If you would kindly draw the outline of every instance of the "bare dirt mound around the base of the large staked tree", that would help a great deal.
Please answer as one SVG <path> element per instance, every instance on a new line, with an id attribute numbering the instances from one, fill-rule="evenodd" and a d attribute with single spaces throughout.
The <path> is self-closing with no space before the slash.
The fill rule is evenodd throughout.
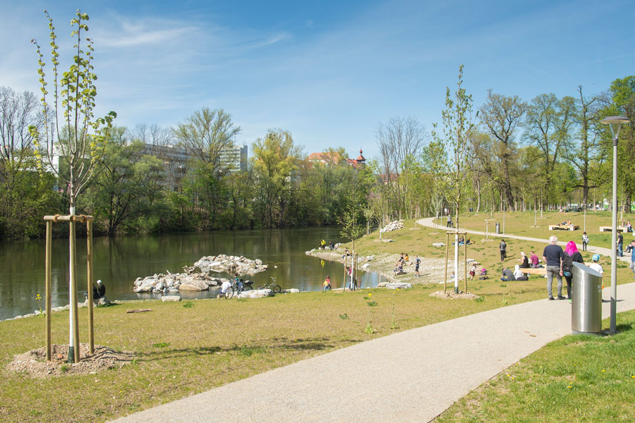
<path id="1" fill-rule="evenodd" d="M 66 376 L 68 374 L 96 374 L 107 369 L 122 367 L 131 362 L 135 355 L 130 352 L 119 352 L 102 345 L 95 345 L 95 354 L 88 355 L 88 344 L 80 343 L 78 363 L 69 364 L 68 345 L 52 345 L 52 360 L 47 362 L 47 348 L 30 350 L 13 357 L 7 364 L 11 372 L 28 374 L 32 377 Z"/>

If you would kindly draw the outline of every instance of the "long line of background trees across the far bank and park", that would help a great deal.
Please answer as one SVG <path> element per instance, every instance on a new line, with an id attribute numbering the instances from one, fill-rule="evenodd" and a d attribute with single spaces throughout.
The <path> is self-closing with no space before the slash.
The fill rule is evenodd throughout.
<path id="1" fill-rule="evenodd" d="M 358 167 L 341 147 L 327 149 L 327 163 L 311 163 L 289 131 L 272 129 L 253 142 L 246 171 L 236 171 L 222 151 L 241 128 L 222 109 L 204 107 L 174 128 L 104 128 L 99 159 L 82 159 L 95 162 L 77 213 L 94 215 L 95 231 L 107 235 L 339 224 L 356 238 L 367 222 L 439 215 L 444 207 L 547 209 L 610 196 L 612 144 L 600 121 L 634 120 L 635 76 L 562 98 L 526 101 L 490 90 L 478 107 L 462 78 L 461 67 L 439 125 L 428 131 L 414 117 L 380 123 L 379 157 Z M 38 171 L 44 153 L 32 128 L 44 129 L 45 117 L 34 94 L 0 87 L 1 238 L 40 237 L 44 214 L 65 213 L 70 188 Z M 72 136 L 61 130 L 61 148 Z M 624 125 L 618 196 L 625 212 L 635 190 L 634 144 L 633 126 Z M 171 145 L 190 159 L 172 160 Z"/>

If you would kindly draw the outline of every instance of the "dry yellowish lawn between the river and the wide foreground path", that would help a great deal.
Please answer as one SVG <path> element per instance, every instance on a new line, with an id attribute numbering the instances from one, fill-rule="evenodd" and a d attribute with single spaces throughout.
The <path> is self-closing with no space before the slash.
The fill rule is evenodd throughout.
<path id="1" fill-rule="evenodd" d="M 444 241 L 444 233 L 411 230 L 413 226 L 408 221 L 406 228 L 388 233 L 392 243 L 377 243 L 377 235 L 371 234 L 356 243 L 356 249 L 365 255 L 409 252 L 411 257 L 442 258 L 444 249 L 436 249 L 432 243 Z M 546 297 L 544 278 L 502 283 L 497 241 L 475 239 L 476 244 L 468 247 L 468 257 L 490 270 L 490 279 L 468 284 L 468 291 L 479 296 L 477 300 L 430 298 L 440 287 L 425 284 L 399 291 L 377 288 L 260 300 L 145 301 L 97 308 L 95 343 L 132 351 L 136 360 L 121 369 L 92 375 L 32 379 L 6 371 L 13 355 L 44 346 L 44 319 L 0 321 L 0 421 L 112 419 L 353 343 Z M 543 247 L 509 240 L 506 264 L 516 264 L 521 250 L 541 251 Z M 607 261 L 603 265 L 607 278 Z M 618 272 L 618 281 L 632 280 L 626 266 Z M 369 307 L 373 301 L 376 305 Z M 126 313 L 143 308 L 152 312 Z M 365 331 L 369 311 L 372 333 Z M 80 341 L 87 340 L 86 321 L 87 310 L 80 309 Z M 67 343 L 68 314 L 56 312 L 52 322 L 53 342 Z"/>

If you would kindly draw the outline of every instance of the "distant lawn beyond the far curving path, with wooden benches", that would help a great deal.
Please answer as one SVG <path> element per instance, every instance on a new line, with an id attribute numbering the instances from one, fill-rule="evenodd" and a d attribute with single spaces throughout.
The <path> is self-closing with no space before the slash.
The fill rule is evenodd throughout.
<path id="1" fill-rule="evenodd" d="M 495 212 L 492 216 L 495 221 L 490 221 L 489 223 L 490 233 L 495 232 L 495 223 L 500 223 L 502 231 L 503 213 Z M 535 217 L 537 227 L 533 227 Z M 485 232 L 485 219 L 490 219 L 489 213 L 461 214 L 461 216 L 459 216 L 459 225 L 461 228 Z M 549 225 L 556 225 L 557 223 L 562 223 L 568 219 L 570 219 L 571 223 L 574 225 L 579 225 L 580 229 L 577 231 L 549 231 Z M 611 219 L 611 212 L 586 213 L 586 233 L 589 238 L 589 245 L 604 248 L 610 247 L 611 233 L 600 232 L 600 226 L 611 226 Z M 619 220 L 619 214 L 617 215 L 617 219 L 618 224 L 621 225 L 622 221 Z M 628 219 L 631 219 L 631 216 L 629 214 L 624 214 L 624 220 Z M 631 220 L 635 221 L 635 217 Z M 540 212 L 538 212 L 537 216 L 534 216 L 533 212 L 506 212 L 504 214 L 504 228 L 505 232 L 508 234 L 542 239 L 548 239 L 551 235 L 556 235 L 560 241 L 575 241 L 580 249 L 584 227 L 583 222 L 583 213 L 543 212 L 542 218 L 540 217 Z M 437 223 L 445 225 L 446 221 L 444 218 L 437 219 Z M 624 233 L 624 247 L 626 247 L 633 239 L 633 233 Z"/>

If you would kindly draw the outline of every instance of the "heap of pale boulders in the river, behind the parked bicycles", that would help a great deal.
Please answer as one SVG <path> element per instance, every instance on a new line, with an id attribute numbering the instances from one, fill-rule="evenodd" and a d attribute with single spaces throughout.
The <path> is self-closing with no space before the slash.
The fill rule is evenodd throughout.
<path id="1" fill-rule="evenodd" d="M 250 260 L 243 256 L 207 256 L 201 257 L 193 266 L 183 268 L 180 274 L 154 274 L 135 281 L 135 293 L 161 293 L 179 291 L 204 291 L 220 286 L 226 278 L 216 278 L 212 273 L 234 275 L 253 275 L 267 270 L 262 260 Z"/>

